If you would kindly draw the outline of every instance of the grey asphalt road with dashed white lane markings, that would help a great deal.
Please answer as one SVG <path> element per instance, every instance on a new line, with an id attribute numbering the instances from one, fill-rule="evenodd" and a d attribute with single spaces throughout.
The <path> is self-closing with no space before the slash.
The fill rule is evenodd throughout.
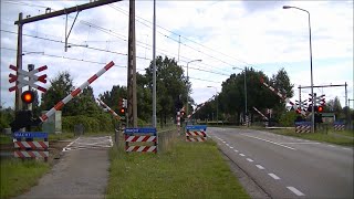
<path id="1" fill-rule="evenodd" d="M 238 128 L 208 136 L 271 198 L 354 197 L 353 147 Z"/>

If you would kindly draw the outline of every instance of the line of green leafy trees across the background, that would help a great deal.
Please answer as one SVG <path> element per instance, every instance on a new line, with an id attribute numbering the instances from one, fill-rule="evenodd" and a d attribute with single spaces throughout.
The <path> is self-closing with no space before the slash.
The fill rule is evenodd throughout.
<path id="1" fill-rule="evenodd" d="M 216 118 L 218 118 L 223 122 L 239 123 L 247 112 L 253 122 L 262 121 L 261 116 L 253 111 L 253 107 L 257 107 L 262 113 L 271 108 L 274 121 L 290 123 L 290 121 L 296 116 L 294 112 L 289 112 L 285 108 L 284 102 L 267 88 L 260 82 L 260 78 L 263 78 L 264 82 L 275 87 L 289 98 L 293 96 L 293 84 L 291 84 L 284 69 L 279 70 L 277 74 L 268 77 L 262 71 L 254 71 L 252 67 L 247 67 L 238 74 L 231 74 L 222 82 L 220 93 L 205 103 L 205 105 L 192 115 L 192 118 L 201 121 L 216 121 Z M 247 107 L 244 101 L 244 81 L 247 85 Z M 41 94 L 41 102 L 39 102 L 38 96 L 33 102 L 34 116 L 40 116 L 43 111 L 52 108 L 75 88 L 73 78 L 67 71 L 60 72 L 54 78 L 50 80 L 50 83 L 48 91 Z M 136 74 L 136 83 L 138 126 L 149 126 L 152 124 L 153 113 L 153 62 L 145 69 L 145 74 Z M 176 101 L 178 100 L 187 102 L 188 97 L 188 109 L 190 113 L 194 111 L 192 105 L 195 102 L 190 97 L 191 83 L 184 75 L 183 66 L 178 65 L 175 59 L 157 56 L 156 93 L 156 114 L 157 122 L 160 126 L 175 122 Z M 126 97 L 127 87 L 123 85 L 113 85 L 111 90 L 98 94 L 98 98 L 116 113 L 118 113 L 119 108 L 119 98 Z M 329 104 L 332 104 L 331 108 L 333 112 L 337 115 L 343 115 L 343 108 L 337 98 L 331 101 Z M 184 106 L 186 106 L 185 103 Z M 12 108 L 1 108 L 0 128 L 9 127 L 13 115 Z M 353 112 L 351 115 L 353 118 Z M 72 130 L 73 125 L 76 123 L 84 123 L 86 129 L 88 128 L 90 130 L 110 130 L 118 124 L 108 113 L 103 112 L 103 107 L 96 103 L 94 91 L 91 86 L 87 86 L 79 96 L 63 106 L 62 116 L 64 130 Z"/>

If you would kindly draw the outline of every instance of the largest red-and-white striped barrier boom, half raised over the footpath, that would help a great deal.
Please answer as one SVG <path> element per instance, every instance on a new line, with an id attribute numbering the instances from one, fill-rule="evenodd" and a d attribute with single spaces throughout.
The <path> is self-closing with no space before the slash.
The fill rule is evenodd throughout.
<path id="1" fill-rule="evenodd" d="M 80 87 L 71 92 L 65 98 L 60 101 L 54 107 L 52 107 L 49 112 L 40 116 L 41 122 L 45 122 L 51 115 L 53 115 L 56 111 L 60 111 L 66 103 L 69 103 L 72 98 L 79 95 L 85 87 L 87 87 L 92 82 L 97 80 L 103 73 L 108 71 L 114 65 L 114 62 L 111 61 L 107 65 L 105 65 L 102 70 L 100 70 L 96 74 L 91 76 L 85 83 L 83 83 Z"/>

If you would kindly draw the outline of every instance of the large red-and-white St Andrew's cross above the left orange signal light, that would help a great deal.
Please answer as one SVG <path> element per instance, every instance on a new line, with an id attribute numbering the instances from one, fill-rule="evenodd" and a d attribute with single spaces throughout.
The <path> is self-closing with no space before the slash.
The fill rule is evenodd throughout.
<path id="1" fill-rule="evenodd" d="M 48 69 L 46 65 L 41 66 L 41 67 L 33 70 L 33 71 L 30 71 L 30 72 L 18 69 L 14 65 L 10 65 L 10 69 L 18 72 L 18 75 L 14 75 L 12 73 L 9 74 L 9 77 L 10 77 L 9 82 L 10 83 L 15 82 L 15 85 L 9 88 L 10 92 L 15 91 L 15 90 L 23 87 L 23 86 L 32 86 L 43 93 L 46 92 L 46 88 L 34 84 L 37 81 L 42 82 L 44 84 L 46 83 L 46 80 L 45 80 L 46 74 L 43 74 L 41 76 L 35 75 L 35 73 L 46 70 Z M 29 77 L 29 80 L 24 80 L 25 77 Z"/>

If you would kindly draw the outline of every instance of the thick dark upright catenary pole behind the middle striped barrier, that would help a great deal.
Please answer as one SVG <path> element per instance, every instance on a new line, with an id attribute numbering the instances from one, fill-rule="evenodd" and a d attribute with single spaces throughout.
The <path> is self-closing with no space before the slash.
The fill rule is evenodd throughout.
<path id="1" fill-rule="evenodd" d="M 129 0 L 129 30 L 128 30 L 128 118 L 127 127 L 137 127 L 136 105 L 136 51 L 135 51 L 135 0 Z"/>

